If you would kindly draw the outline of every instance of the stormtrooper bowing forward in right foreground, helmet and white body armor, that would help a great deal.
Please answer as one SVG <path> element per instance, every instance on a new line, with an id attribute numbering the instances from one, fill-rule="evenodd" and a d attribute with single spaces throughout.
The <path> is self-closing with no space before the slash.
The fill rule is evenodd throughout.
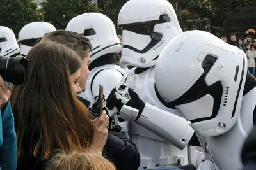
<path id="1" fill-rule="evenodd" d="M 208 154 L 198 169 L 241 169 L 256 105 L 256 80 L 247 74 L 243 50 L 208 32 L 184 32 L 159 56 L 155 81 L 166 104 L 191 121 Z"/>

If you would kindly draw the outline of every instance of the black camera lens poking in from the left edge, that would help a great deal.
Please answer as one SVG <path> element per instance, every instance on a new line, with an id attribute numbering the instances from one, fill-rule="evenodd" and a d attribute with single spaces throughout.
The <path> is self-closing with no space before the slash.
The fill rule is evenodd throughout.
<path id="1" fill-rule="evenodd" d="M 28 66 L 28 60 L 17 55 L 16 57 L 0 56 L 0 75 L 4 81 L 21 85 L 24 81 L 24 73 Z"/>

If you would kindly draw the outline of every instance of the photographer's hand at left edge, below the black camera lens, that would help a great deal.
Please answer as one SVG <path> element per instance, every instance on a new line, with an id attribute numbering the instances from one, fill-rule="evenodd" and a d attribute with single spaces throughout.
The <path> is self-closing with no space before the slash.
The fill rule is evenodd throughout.
<path id="1" fill-rule="evenodd" d="M 8 102 L 10 96 L 11 96 L 11 92 L 8 89 L 8 86 L 6 85 L 3 78 L 0 76 L 0 108 L 1 110 L 4 108 L 4 106 Z"/>

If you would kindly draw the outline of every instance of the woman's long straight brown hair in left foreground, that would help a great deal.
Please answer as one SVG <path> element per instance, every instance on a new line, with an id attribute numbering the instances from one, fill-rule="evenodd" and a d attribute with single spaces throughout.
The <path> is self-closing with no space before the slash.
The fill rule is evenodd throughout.
<path id="1" fill-rule="evenodd" d="M 88 149 L 93 125 L 87 108 L 77 100 L 69 77 L 81 67 L 76 52 L 58 43 L 38 43 L 28 53 L 24 83 L 13 87 L 11 102 L 17 118 L 17 154 L 22 157 L 26 134 L 30 154 L 47 160 L 56 149 Z M 34 141 L 34 143 L 33 143 Z"/>

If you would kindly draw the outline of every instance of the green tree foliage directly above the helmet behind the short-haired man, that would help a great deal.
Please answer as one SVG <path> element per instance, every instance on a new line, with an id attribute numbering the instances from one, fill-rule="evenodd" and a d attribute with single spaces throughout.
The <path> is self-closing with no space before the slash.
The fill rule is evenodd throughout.
<path id="1" fill-rule="evenodd" d="M 65 29 L 68 22 L 77 15 L 99 11 L 90 0 L 48 0 L 42 3 L 42 10 L 44 20 L 56 29 Z"/>

